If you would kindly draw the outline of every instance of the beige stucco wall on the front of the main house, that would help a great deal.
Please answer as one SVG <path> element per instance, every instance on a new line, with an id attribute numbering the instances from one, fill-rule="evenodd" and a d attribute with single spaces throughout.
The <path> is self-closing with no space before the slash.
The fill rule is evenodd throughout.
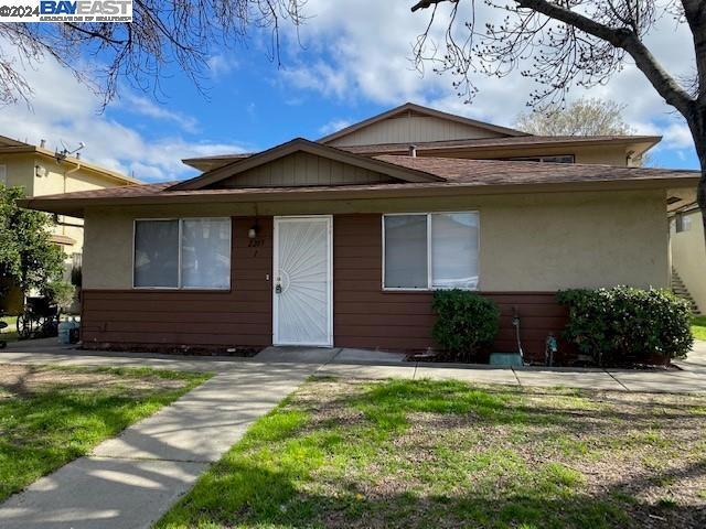
<path id="1" fill-rule="evenodd" d="M 428 210 L 480 212 L 484 291 L 666 287 L 664 198 L 664 191 L 643 191 L 89 209 L 84 287 L 131 288 L 135 218 Z"/>

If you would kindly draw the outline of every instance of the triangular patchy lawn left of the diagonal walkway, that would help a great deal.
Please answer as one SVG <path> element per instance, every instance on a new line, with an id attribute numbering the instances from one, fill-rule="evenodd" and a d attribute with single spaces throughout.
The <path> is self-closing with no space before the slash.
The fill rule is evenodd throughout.
<path id="1" fill-rule="evenodd" d="M 0 500 L 208 378 L 147 368 L 0 365 Z"/>

